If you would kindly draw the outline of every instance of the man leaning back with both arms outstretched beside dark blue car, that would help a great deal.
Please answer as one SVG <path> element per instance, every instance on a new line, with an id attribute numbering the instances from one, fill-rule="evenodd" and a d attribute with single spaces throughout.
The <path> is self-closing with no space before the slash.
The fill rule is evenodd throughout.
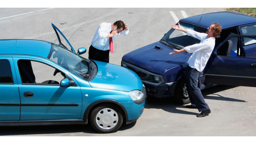
<path id="1" fill-rule="evenodd" d="M 215 45 L 215 37 L 218 37 L 221 32 L 221 26 L 218 23 L 212 23 L 212 25 L 207 28 L 206 33 L 199 33 L 191 29 L 185 29 L 177 25 L 172 25 L 172 28 L 183 31 L 188 34 L 188 36 L 195 37 L 201 42 L 199 44 L 193 44 L 186 46 L 184 49 L 175 50 L 175 52 L 170 52 L 169 54 L 175 54 L 180 52 L 193 53 L 188 59 L 188 67 L 186 70 L 186 84 L 189 99 L 191 105 L 186 106 L 186 108 L 197 108 L 200 114 L 197 117 L 208 116 L 211 110 L 208 104 L 205 102 L 204 97 L 200 91 L 198 85 L 198 76 L 205 68 L 207 61 L 209 60 L 212 50 Z"/>

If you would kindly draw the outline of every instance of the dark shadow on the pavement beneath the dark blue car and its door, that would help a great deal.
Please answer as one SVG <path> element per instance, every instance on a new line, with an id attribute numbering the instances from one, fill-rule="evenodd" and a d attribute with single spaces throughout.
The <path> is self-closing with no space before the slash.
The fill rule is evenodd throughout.
<path id="1" fill-rule="evenodd" d="M 207 89 L 202 90 L 202 94 L 204 99 L 211 99 L 211 100 L 223 100 L 223 101 L 235 101 L 235 102 L 246 102 L 245 100 L 239 100 L 234 98 L 228 98 L 221 96 L 219 94 L 214 94 L 216 92 L 221 92 L 224 90 L 235 88 L 236 86 L 229 86 L 229 85 L 216 85 Z M 210 95 L 210 96 L 208 96 Z M 215 96 L 212 96 L 215 95 Z M 178 114 L 187 114 L 187 115 L 197 115 L 198 113 L 189 112 L 185 109 L 185 105 L 178 105 L 175 103 L 173 97 L 168 98 L 154 98 L 154 97 L 147 97 L 147 101 L 144 108 L 156 108 L 156 109 L 163 109 L 170 113 L 178 113 Z M 183 109 L 184 110 L 181 110 Z"/>

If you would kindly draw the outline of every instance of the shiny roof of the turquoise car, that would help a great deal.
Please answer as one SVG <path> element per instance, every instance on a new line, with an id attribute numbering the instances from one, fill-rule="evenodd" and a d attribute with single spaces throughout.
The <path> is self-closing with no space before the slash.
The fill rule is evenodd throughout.
<path id="1" fill-rule="evenodd" d="M 52 44 L 50 42 L 40 40 L 0 40 L 0 56 L 1 54 L 24 54 L 46 58 L 51 50 L 51 46 Z"/>

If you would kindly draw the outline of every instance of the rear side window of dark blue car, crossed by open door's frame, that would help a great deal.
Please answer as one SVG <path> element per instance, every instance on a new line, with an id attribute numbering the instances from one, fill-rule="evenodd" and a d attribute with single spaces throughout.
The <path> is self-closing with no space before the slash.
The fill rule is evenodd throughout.
<path id="1" fill-rule="evenodd" d="M 241 27 L 242 35 L 255 36 L 256 35 L 256 25 Z M 244 37 L 244 46 L 249 44 L 256 44 L 256 38 Z"/>

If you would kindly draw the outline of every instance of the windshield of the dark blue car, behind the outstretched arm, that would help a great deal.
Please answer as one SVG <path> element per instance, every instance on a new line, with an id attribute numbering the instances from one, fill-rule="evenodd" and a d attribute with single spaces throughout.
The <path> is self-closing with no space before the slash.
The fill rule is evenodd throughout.
<path id="1" fill-rule="evenodd" d="M 176 24 L 178 25 L 178 24 Z M 195 25 L 191 25 L 188 23 L 184 23 L 184 22 L 180 22 L 180 25 L 182 28 L 186 28 L 186 29 L 192 29 L 195 30 L 197 32 L 200 33 L 205 33 L 207 31 L 206 28 L 201 28 Z M 193 44 L 198 44 L 200 43 L 200 40 L 192 37 L 192 36 L 188 36 L 187 33 L 184 33 L 180 30 L 176 30 L 176 29 L 171 29 L 162 39 L 161 42 L 169 45 L 173 48 L 176 49 L 183 49 L 184 47 L 188 46 L 188 45 L 193 45 Z"/>

